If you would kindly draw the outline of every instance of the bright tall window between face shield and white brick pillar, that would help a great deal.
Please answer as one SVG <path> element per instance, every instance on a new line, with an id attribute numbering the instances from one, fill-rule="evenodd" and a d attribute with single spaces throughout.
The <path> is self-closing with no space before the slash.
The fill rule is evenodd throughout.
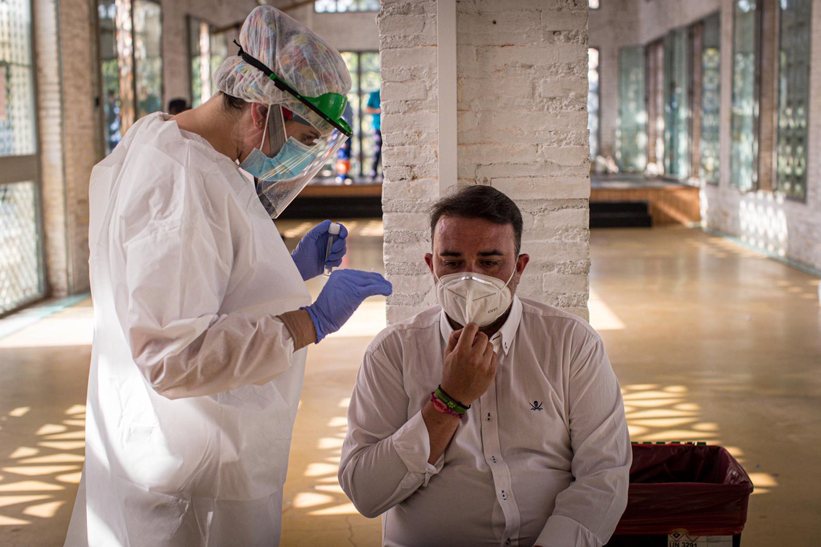
<path id="1" fill-rule="evenodd" d="M 351 104 L 354 131 L 351 136 L 351 170 L 353 176 L 366 177 L 374 160 L 374 114 L 365 113 L 372 92 L 379 90 L 379 52 L 342 52 L 342 58 L 351 72 Z"/>

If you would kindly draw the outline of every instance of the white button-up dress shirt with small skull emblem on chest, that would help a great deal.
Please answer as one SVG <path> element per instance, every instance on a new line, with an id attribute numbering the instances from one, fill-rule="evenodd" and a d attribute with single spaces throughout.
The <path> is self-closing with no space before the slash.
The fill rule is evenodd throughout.
<path id="1" fill-rule="evenodd" d="M 379 333 L 360 369 L 339 481 L 388 547 L 599 547 L 627 501 L 630 436 L 602 339 L 514 297 L 498 370 L 436 465 L 422 408 L 452 328 L 439 306 Z M 387 513 L 386 513 L 387 512 Z"/>

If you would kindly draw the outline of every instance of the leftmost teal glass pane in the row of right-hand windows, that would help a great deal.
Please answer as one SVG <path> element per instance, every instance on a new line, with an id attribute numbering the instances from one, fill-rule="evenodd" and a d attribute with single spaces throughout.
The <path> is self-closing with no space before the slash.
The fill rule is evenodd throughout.
<path id="1" fill-rule="evenodd" d="M 619 168 L 643 172 L 647 163 L 647 114 L 644 111 L 644 48 L 621 48 L 619 73 Z"/>

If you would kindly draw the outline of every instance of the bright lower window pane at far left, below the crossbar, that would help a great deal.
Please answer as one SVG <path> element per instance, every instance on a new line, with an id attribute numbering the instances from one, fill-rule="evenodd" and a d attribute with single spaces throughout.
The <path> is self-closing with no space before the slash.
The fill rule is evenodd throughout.
<path id="1" fill-rule="evenodd" d="M 0 314 L 43 295 L 34 182 L 0 185 Z"/>

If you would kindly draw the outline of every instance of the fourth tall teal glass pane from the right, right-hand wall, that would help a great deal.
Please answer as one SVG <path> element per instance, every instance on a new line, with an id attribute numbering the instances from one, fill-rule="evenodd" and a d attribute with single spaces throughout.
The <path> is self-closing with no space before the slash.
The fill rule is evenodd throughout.
<path id="1" fill-rule="evenodd" d="M 686 29 L 664 38 L 664 172 L 671 177 L 690 174 L 690 71 Z"/>

